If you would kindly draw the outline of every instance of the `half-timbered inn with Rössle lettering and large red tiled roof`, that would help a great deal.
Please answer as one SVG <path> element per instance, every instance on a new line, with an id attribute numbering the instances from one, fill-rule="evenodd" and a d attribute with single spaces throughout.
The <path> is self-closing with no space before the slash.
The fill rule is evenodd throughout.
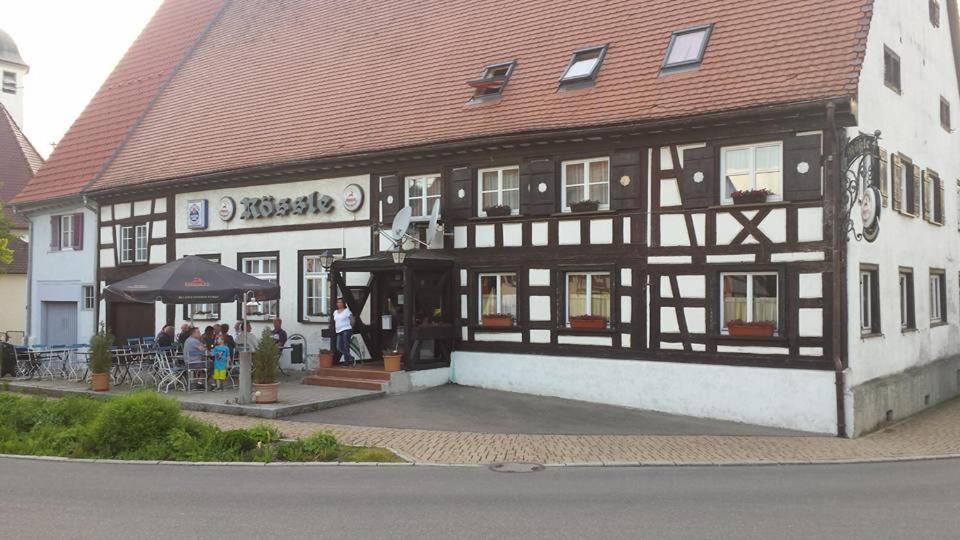
<path id="1" fill-rule="evenodd" d="M 226 1 L 84 191 L 101 286 L 205 255 L 279 282 L 246 309 L 308 352 L 345 296 L 415 386 L 856 435 L 960 392 L 957 30 L 955 0 Z"/>

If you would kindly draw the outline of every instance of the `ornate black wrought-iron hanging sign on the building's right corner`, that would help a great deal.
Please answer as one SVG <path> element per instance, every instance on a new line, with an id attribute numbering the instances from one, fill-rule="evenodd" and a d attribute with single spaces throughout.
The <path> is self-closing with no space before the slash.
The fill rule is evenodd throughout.
<path id="1" fill-rule="evenodd" d="M 853 234 L 857 241 L 873 242 L 880 233 L 880 132 L 847 140 L 841 159 L 844 189 L 839 223 L 848 239 Z M 854 208 L 860 211 L 860 232 L 851 215 Z"/>

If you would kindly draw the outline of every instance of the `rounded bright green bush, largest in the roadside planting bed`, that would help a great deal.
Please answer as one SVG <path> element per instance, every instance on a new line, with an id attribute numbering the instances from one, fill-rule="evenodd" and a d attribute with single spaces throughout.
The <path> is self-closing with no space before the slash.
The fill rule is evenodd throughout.
<path id="1" fill-rule="evenodd" d="M 180 404 L 141 391 L 108 401 L 91 425 L 87 449 L 97 456 L 127 453 L 163 439 L 182 425 Z"/>

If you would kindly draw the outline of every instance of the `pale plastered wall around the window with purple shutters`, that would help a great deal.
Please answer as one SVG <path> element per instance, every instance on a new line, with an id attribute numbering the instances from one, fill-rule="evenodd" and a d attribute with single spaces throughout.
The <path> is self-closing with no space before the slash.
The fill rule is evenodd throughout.
<path id="1" fill-rule="evenodd" d="M 83 213 L 83 249 L 50 249 L 50 217 Z M 96 285 L 97 215 L 77 203 L 72 206 L 27 213 L 30 242 L 29 342 L 42 343 L 43 302 L 76 302 L 77 343 L 86 343 L 96 331 L 96 312 L 83 309 L 84 285 Z"/>

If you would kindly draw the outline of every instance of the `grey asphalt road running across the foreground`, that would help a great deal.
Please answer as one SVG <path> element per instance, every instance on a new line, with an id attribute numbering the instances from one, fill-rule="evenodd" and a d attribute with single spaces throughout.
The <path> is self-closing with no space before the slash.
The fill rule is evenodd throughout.
<path id="1" fill-rule="evenodd" d="M 960 461 L 191 467 L 0 459 L 3 538 L 937 538 Z"/>

